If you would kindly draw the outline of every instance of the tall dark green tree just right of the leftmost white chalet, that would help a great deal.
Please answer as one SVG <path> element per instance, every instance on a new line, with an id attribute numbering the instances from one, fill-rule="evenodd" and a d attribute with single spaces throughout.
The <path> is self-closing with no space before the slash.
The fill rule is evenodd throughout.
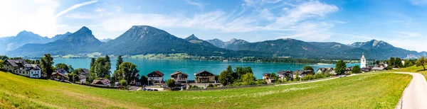
<path id="1" fill-rule="evenodd" d="M 51 54 L 44 54 L 44 57 L 40 58 L 40 62 L 43 73 L 48 77 L 51 77 L 53 73 L 53 57 L 51 57 Z"/>

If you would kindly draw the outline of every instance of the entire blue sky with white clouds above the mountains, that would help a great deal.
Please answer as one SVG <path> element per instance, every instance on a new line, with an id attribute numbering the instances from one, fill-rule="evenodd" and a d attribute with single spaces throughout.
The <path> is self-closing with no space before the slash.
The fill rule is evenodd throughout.
<path id="1" fill-rule="evenodd" d="M 426 0 L 14 0 L 1 1 L 0 37 L 22 30 L 41 36 L 83 26 L 98 39 L 117 38 L 132 25 L 151 25 L 179 38 L 260 42 L 384 40 L 427 51 Z"/>

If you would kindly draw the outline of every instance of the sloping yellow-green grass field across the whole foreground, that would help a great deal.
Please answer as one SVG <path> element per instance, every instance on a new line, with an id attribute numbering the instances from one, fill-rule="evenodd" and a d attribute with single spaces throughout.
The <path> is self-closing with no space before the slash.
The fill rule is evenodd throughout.
<path id="1" fill-rule="evenodd" d="M 367 74 L 216 91 L 120 91 L 0 71 L 0 108 L 394 108 L 412 76 Z"/>

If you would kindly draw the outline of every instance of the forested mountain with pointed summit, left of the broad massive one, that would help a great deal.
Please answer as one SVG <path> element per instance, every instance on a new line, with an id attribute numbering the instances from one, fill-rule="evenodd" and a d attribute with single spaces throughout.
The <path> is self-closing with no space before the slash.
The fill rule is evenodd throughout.
<path id="1" fill-rule="evenodd" d="M 92 34 L 92 30 L 83 26 L 68 37 L 46 44 L 26 44 L 18 49 L 7 52 L 9 55 L 37 57 L 43 54 L 80 54 L 91 53 L 102 44 Z"/>

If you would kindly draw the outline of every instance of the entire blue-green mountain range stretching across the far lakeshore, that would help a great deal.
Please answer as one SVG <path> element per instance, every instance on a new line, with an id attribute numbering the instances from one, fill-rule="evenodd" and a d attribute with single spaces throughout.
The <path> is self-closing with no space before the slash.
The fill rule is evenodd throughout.
<path id="1" fill-rule="evenodd" d="M 27 40 L 33 39 L 29 36 L 32 35 L 28 35 Z M 34 37 L 35 40 L 37 40 L 36 38 Z M 317 59 L 359 59 L 362 54 L 365 54 L 368 59 L 416 58 L 426 55 L 426 52 L 404 50 L 381 40 L 344 45 L 338 42 L 305 42 L 291 38 L 262 42 L 248 42 L 233 38 L 230 41 L 223 42 L 218 39 L 201 40 L 196 35 L 190 35 L 182 39 L 149 25 L 134 25 L 119 37 L 106 42 L 97 40 L 92 31 L 86 27 L 80 28 L 75 33 L 65 33 L 54 38 L 57 40 L 46 41 L 47 43 L 44 44 L 42 42 L 38 44 L 28 43 L 16 50 L 9 50 L 6 54 L 38 57 L 46 53 L 53 55 L 92 52 L 116 55 L 186 53 L 200 57 L 302 57 Z M 54 38 L 50 39 L 53 40 Z"/>

